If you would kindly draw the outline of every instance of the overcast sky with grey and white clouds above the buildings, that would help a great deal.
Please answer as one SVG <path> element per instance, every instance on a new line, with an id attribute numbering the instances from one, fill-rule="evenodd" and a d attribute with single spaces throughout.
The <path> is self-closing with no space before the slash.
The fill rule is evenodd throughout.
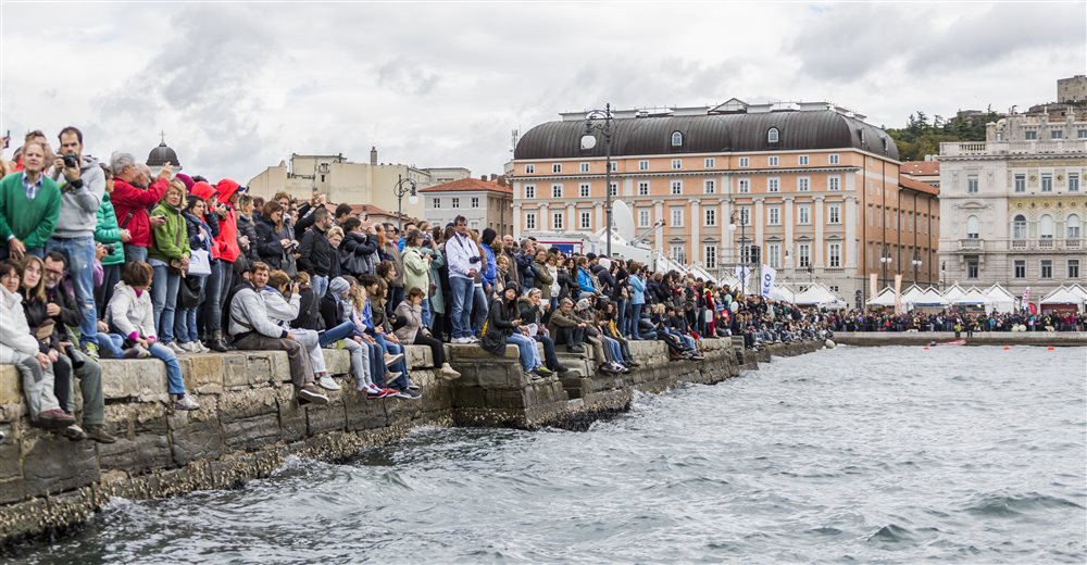
<path id="1" fill-rule="evenodd" d="M 511 130 L 565 111 L 830 100 L 1054 100 L 1087 67 L 1087 3 L 0 2 L 0 130 L 86 133 L 246 181 L 291 152 L 500 173 Z M 16 142 L 13 141 L 11 149 Z M 10 156 L 10 150 L 8 153 Z"/>

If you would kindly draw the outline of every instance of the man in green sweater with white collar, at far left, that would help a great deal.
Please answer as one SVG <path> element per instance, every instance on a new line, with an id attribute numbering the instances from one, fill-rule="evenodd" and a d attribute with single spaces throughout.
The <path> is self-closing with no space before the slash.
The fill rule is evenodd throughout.
<path id="1" fill-rule="evenodd" d="M 57 228 L 61 189 L 42 175 L 46 149 L 38 142 L 23 147 L 23 172 L 0 179 L 0 260 L 42 256 Z"/>

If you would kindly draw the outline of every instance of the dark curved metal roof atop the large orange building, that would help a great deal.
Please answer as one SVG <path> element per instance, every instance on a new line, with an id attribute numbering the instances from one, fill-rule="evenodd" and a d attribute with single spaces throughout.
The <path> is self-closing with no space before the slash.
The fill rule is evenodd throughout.
<path id="1" fill-rule="evenodd" d="M 855 148 L 898 160 L 886 131 L 833 110 L 615 118 L 612 127 L 613 156 Z M 776 143 L 767 139 L 771 128 L 778 130 Z M 683 134 L 682 146 L 672 146 L 675 131 Z M 540 124 L 521 138 L 513 156 L 604 156 L 602 142 L 582 149 L 584 134 L 584 120 Z"/>

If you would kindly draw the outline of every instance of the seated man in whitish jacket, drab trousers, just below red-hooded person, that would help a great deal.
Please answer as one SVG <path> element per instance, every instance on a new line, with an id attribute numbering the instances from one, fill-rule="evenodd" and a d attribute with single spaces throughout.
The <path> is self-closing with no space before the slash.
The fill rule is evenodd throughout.
<path id="1" fill-rule="evenodd" d="M 271 269 L 266 263 L 254 261 L 249 267 L 250 280 L 238 286 L 229 305 L 227 331 L 234 347 L 249 351 L 286 351 L 290 364 L 290 380 L 301 402 L 327 404 L 328 397 L 313 385 L 313 368 L 305 349 L 295 336 L 268 317 L 264 297 L 259 289 L 268 281 Z"/>

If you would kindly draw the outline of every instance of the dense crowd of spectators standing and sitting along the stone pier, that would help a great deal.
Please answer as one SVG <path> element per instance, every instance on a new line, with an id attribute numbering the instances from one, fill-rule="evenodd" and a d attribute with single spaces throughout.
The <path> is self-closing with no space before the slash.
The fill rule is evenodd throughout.
<path id="1" fill-rule="evenodd" d="M 73 440 L 114 441 L 102 357 L 162 361 L 173 409 L 190 411 L 199 401 L 178 355 L 191 353 L 285 351 L 297 401 L 324 404 L 340 389 L 329 348 L 349 352 L 358 393 L 415 400 L 410 344 L 428 348 L 445 379 L 460 377 L 445 343 L 496 354 L 515 344 L 525 374 L 549 379 L 569 371 L 560 352 L 629 372 L 636 340 L 699 362 L 704 337 L 742 336 L 759 349 L 947 319 L 802 310 L 636 261 L 477 233 L 463 216 L 372 223 L 321 194 L 265 200 L 170 163 L 153 172 L 125 152 L 103 163 L 75 127 L 58 141 L 54 150 L 33 131 L 13 162 L 0 159 L 0 363 L 22 374 L 32 422 Z"/>

